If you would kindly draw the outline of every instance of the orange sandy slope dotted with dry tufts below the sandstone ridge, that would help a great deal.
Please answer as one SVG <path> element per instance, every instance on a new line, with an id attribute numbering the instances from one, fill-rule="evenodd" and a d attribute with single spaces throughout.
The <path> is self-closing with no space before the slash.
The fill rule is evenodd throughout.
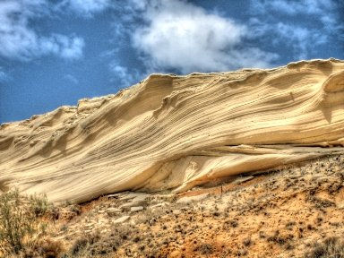
<path id="1" fill-rule="evenodd" d="M 344 257 L 344 156 L 268 172 L 67 205 L 45 237 L 63 246 L 54 257 Z"/>

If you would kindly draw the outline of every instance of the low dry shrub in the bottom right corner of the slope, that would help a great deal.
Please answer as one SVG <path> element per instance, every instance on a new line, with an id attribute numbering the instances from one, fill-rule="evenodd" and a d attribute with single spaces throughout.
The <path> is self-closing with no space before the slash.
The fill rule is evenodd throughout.
<path id="1" fill-rule="evenodd" d="M 323 243 L 314 245 L 305 258 L 344 258 L 344 241 L 339 237 L 328 237 Z"/>

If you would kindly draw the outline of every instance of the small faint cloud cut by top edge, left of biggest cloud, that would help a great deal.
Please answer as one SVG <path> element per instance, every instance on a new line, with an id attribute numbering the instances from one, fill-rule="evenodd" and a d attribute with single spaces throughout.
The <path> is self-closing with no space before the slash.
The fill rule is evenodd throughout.
<path id="1" fill-rule="evenodd" d="M 61 5 L 70 8 L 74 13 L 90 17 L 110 6 L 110 0 L 64 0 Z"/>

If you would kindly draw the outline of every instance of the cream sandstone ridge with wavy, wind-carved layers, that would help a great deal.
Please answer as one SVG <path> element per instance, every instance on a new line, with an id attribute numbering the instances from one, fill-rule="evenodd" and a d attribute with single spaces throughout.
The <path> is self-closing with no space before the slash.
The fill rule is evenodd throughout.
<path id="1" fill-rule="evenodd" d="M 0 189 L 89 201 L 195 185 L 342 152 L 344 61 L 152 74 L 0 127 Z"/>

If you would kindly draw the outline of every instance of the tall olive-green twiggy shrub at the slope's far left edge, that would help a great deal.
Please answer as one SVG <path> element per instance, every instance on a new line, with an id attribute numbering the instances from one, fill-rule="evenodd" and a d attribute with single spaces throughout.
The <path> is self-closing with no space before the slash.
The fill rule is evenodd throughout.
<path id="1" fill-rule="evenodd" d="M 44 234 L 39 216 L 47 211 L 47 198 L 24 198 L 18 190 L 0 195 L 0 255 L 19 256 L 37 244 Z"/>

